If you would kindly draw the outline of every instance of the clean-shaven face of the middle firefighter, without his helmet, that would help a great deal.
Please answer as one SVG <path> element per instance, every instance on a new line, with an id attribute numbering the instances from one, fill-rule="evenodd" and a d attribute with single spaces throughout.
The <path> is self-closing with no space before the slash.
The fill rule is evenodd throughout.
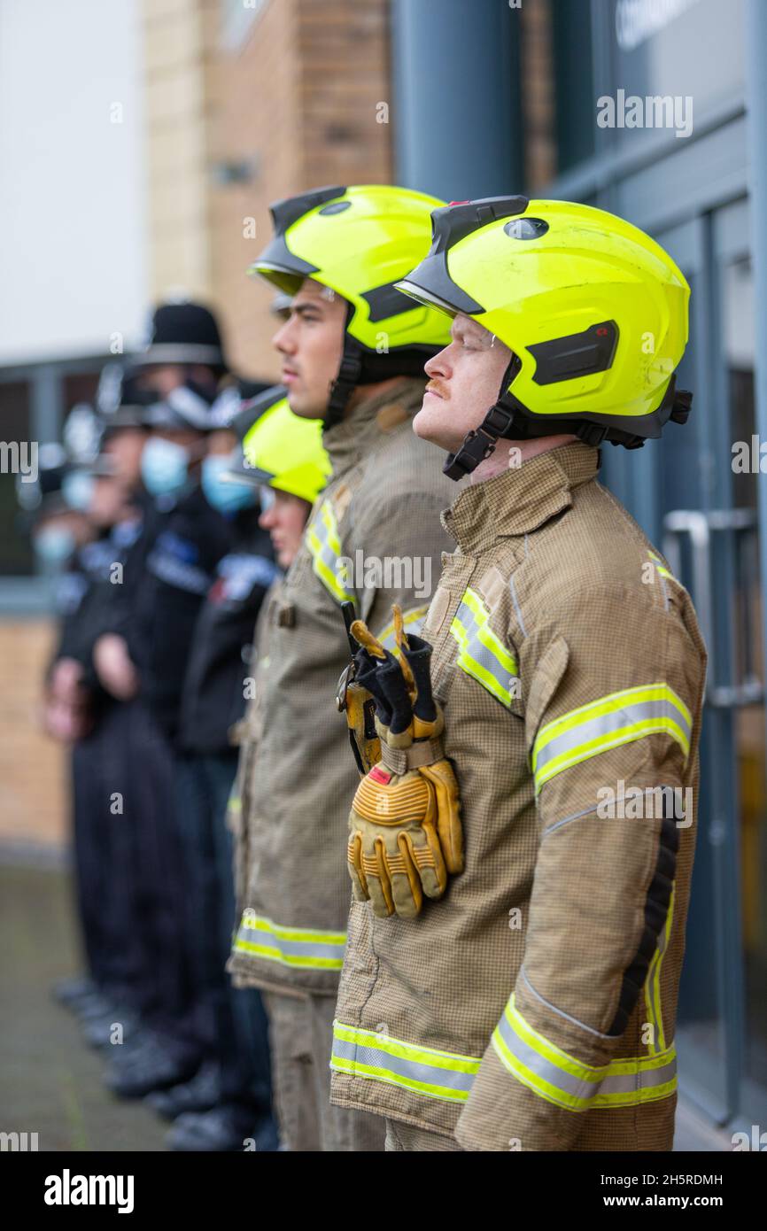
<path id="1" fill-rule="evenodd" d="M 291 410 L 303 419 L 321 419 L 327 409 L 343 353 L 346 308 L 341 295 L 305 278 L 288 319 L 272 339 L 282 358 L 279 379 Z"/>

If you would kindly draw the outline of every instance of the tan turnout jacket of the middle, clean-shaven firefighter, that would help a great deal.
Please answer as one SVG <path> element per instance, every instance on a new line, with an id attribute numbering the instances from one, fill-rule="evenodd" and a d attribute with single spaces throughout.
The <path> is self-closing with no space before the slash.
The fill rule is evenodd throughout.
<path id="1" fill-rule="evenodd" d="M 438 449 L 412 432 L 424 385 L 403 379 L 325 433 L 331 481 L 263 603 L 230 809 L 240 922 L 228 969 L 243 986 L 337 990 L 351 897 L 346 824 L 359 780 L 334 707 L 350 661 L 340 603 L 353 599 L 388 644 L 394 602 L 414 632 L 426 614 L 454 486 Z"/>

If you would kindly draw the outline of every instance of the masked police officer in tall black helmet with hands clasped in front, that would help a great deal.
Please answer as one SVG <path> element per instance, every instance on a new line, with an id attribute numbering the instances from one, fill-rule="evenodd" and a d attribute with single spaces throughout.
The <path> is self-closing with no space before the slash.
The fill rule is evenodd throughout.
<path id="1" fill-rule="evenodd" d="M 227 363 L 218 325 L 199 304 L 164 304 L 147 350 L 134 357 L 149 394 L 142 479 L 151 497 L 116 591 L 111 628 L 94 648 L 102 686 L 131 707 L 129 787 L 123 808 L 134 838 L 135 928 L 151 972 L 134 1045 L 112 1049 L 107 1085 L 123 1097 L 188 1080 L 207 1023 L 192 998 L 192 945 L 175 771 L 180 703 L 195 623 L 231 527 L 207 502 L 199 473 L 212 405 Z"/>

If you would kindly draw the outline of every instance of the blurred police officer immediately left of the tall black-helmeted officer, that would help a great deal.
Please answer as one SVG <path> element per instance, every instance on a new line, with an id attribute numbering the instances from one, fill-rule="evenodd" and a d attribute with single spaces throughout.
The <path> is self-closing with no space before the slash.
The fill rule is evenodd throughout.
<path id="1" fill-rule="evenodd" d="M 92 664 L 94 645 L 108 627 L 122 570 L 142 531 L 145 401 L 123 364 L 105 367 L 96 395 L 98 454 L 81 471 L 85 487 L 80 485 L 98 539 L 87 548 L 89 586 L 76 620 L 76 659 L 87 689 L 92 729 L 74 750 L 75 819 L 80 817 L 80 824 L 75 824 L 75 856 L 81 913 L 87 912 L 92 921 L 102 959 L 97 992 L 78 1000 L 76 1011 L 85 1038 L 95 1046 L 107 1045 L 117 1022 L 128 1037 L 135 1033 L 150 981 L 134 918 L 132 833 L 118 806 L 128 784 L 129 703 L 106 692 Z M 84 422 L 73 422 L 74 414 L 64 432 L 70 444 L 85 430 Z"/>

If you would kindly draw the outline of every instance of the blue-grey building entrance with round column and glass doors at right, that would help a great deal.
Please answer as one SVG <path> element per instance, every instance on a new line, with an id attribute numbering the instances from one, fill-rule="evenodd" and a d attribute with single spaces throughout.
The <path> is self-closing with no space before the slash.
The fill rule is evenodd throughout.
<path id="1" fill-rule="evenodd" d="M 763 1126 L 767 6 L 473 0 L 469 20 L 462 0 L 393 0 L 392 11 L 401 182 L 613 211 L 691 284 L 678 374 L 694 390 L 689 421 L 630 454 L 607 446 L 603 479 L 691 590 L 710 654 L 681 1087 L 719 1125 Z"/>

